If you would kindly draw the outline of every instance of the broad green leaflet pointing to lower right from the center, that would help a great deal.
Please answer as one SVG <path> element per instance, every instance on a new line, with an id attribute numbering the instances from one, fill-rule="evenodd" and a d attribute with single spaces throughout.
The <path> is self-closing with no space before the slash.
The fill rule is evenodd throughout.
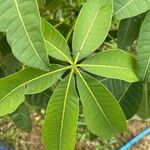
<path id="1" fill-rule="evenodd" d="M 78 72 L 77 87 L 89 129 L 102 138 L 126 130 L 126 119 L 113 95 L 98 80 Z"/>

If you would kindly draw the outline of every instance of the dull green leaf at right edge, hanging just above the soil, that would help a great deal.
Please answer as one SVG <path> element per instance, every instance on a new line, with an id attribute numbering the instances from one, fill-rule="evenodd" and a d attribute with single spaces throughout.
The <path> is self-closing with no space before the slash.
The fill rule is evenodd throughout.
<path id="1" fill-rule="evenodd" d="M 150 117 L 150 84 L 144 84 L 142 102 L 137 114 L 142 119 L 148 119 Z"/>

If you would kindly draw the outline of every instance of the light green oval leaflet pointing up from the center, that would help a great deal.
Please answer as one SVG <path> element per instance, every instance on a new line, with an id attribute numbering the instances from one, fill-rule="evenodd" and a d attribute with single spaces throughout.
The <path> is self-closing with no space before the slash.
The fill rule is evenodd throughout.
<path id="1" fill-rule="evenodd" d="M 89 0 L 83 6 L 74 29 L 75 62 L 87 57 L 105 40 L 112 19 L 112 0 Z"/>

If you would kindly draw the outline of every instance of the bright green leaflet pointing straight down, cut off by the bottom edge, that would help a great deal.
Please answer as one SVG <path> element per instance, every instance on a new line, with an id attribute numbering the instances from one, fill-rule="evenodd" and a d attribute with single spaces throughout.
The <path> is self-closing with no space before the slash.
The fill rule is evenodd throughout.
<path id="1" fill-rule="evenodd" d="M 74 150 L 78 103 L 73 72 L 71 72 L 58 85 L 47 108 L 43 128 L 46 150 Z"/>

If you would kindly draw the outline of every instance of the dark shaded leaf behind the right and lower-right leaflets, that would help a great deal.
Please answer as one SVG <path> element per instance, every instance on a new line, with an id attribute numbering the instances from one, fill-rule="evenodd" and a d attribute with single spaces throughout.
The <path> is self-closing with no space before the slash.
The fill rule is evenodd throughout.
<path id="1" fill-rule="evenodd" d="M 126 119 L 133 117 L 140 106 L 143 93 L 141 82 L 127 83 L 116 79 L 103 79 L 101 82 L 118 100 Z"/>

